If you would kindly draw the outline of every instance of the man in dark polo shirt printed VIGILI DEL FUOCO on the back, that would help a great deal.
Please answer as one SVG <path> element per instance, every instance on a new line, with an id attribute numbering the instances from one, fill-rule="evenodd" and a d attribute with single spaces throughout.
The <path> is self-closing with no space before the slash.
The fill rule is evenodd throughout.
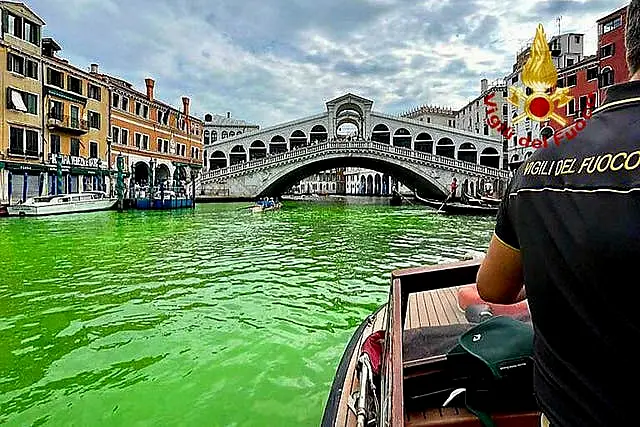
<path id="1" fill-rule="evenodd" d="M 534 387 L 554 427 L 640 425 L 640 0 L 626 45 L 631 80 L 519 168 L 478 272 L 490 302 L 526 285 Z"/>

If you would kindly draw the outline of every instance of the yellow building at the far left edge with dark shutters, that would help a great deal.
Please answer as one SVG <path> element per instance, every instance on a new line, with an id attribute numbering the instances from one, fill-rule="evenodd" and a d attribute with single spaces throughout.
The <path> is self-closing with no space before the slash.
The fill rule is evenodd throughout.
<path id="1" fill-rule="evenodd" d="M 48 166 L 42 139 L 41 34 L 24 3 L 0 1 L 0 203 L 40 194 Z"/>

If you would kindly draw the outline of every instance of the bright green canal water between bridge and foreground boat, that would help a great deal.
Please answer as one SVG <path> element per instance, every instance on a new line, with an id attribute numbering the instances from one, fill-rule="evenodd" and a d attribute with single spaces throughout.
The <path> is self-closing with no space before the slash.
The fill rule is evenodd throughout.
<path id="1" fill-rule="evenodd" d="M 0 424 L 317 426 L 389 273 L 492 218 L 349 201 L 0 218 Z"/>

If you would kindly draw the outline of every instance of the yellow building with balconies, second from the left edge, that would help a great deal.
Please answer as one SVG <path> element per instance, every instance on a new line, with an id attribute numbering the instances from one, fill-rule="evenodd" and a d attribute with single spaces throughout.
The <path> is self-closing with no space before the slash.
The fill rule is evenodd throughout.
<path id="1" fill-rule="evenodd" d="M 83 71 L 58 58 L 60 50 L 42 40 L 46 192 L 109 191 L 109 87 L 96 64 Z"/>

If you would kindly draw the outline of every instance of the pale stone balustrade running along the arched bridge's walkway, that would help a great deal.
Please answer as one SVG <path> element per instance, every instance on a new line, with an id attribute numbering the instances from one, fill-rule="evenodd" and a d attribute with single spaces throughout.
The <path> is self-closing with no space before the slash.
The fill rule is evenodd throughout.
<path id="1" fill-rule="evenodd" d="M 375 141 L 330 141 L 319 144 L 313 144 L 301 148 L 297 148 L 284 153 L 270 155 L 259 159 L 253 159 L 250 161 L 240 161 L 233 165 L 214 169 L 209 172 L 205 172 L 201 176 L 202 181 L 233 175 L 236 173 L 247 173 L 254 169 L 264 168 L 266 166 L 273 166 L 292 159 L 302 159 L 307 157 L 313 157 L 317 154 L 331 154 L 331 153 L 351 153 L 357 152 L 373 152 L 373 153 L 385 153 L 394 156 L 400 156 L 407 160 L 419 160 L 429 162 L 436 166 L 448 166 L 462 171 L 472 171 L 483 175 L 488 175 L 495 178 L 508 179 L 509 171 L 503 169 L 496 169 L 489 166 L 478 165 L 476 163 L 466 162 L 463 160 L 452 159 L 446 156 L 440 156 L 437 154 L 431 154 L 427 152 L 421 152 L 412 150 L 410 148 L 396 147 L 393 145 L 375 142 Z"/>

